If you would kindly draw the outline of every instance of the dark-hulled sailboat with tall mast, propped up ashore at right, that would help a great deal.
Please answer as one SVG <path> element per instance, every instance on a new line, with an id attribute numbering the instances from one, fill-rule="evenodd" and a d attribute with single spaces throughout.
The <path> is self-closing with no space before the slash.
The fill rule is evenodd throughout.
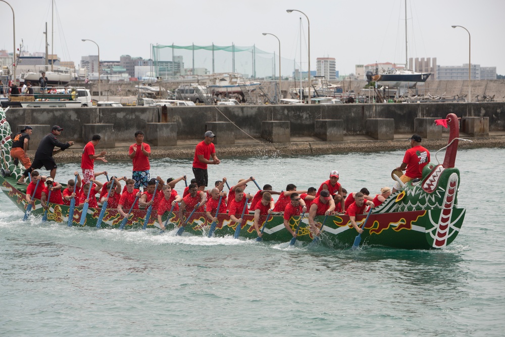
<path id="1" fill-rule="evenodd" d="M 367 81 L 376 81 L 378 84 L 388 87 L 416 87 L 417 83 L 424 83 L 430 77 L 431 73 L 417 73 L 407 69 L 408 65 L 407 50 L 407 0 L 405 0 L 405 69 L 386 69 L 375 73 L 367 71 Z"/>

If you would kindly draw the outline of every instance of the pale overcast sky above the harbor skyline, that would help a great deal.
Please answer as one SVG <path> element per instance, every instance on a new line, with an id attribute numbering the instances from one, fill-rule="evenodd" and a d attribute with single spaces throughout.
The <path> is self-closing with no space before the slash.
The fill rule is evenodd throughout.
<path id="1" fill-rule="evenodd" d="M 43 52 L 46 21 L 51 43 L 51 0 L 7 2 L 16 16 L 17 47 L 23 39 L 27 51 Z M 101 60 L 119 60 L 124 54 L 148 59 L 151 43 L 234 42 L 277 53 L 277 39 L 263 32 L 279 37 L 283 59 L 299 60 L 299 17 L 304 30 L 307 20 L 286 9 L 300 10 L 311 20 L 312 70 L 318 57 L 335 58 L 340 74 L 354 73 L 356 64 L 405 63 L 404 0 L 56 0 L 55 8 L 54 52 L 76 66 L 81 56 L 96 55 L 96 46 L 83 38 L 99 44 Z M 408 0 L 407 9 L 409 57 L 436 57 L 443 66 L 468 63 L 468 34 L 451 28 L 461 25 L 472 34 L 472 63 L 496 66 L 497 74 L 505 75 L 505 43 L 500 38 L 505 32 L 505 1 Z M 0 19 L 0 47 L 12 52 L 12 12 L 1 2 Z M 306 47 L 302 52 L 305 68 Z M 185 57 L 184 63 L 190 67 L 191 60 Z"/>

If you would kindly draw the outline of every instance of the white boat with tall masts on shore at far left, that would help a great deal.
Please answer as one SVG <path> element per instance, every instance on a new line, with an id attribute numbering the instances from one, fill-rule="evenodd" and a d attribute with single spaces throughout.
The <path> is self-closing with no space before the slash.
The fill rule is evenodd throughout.
<path id="1" fill-rule="evenodd" d="M 52 4 L 52 21 L 54 17 L 54 0 L 51 2 Z M 51 30 L 53 30 L 53 24 L 51 26 Z M 73 74 L 73 71 L 71 71 L 70 68 L 68 67 L 62 67 L 55 65 L 55 59 L 53 59 L 53 52 L 52 58 L 51 58 L 51 65 L 48 65 L 48 57 L 49 55 L 47 52 L 47 23 L 45 25 L 45 57 L 24 57 L 21 54 L 21 49 L 20 49 L 20 57 L 19 57 L 19 65 L 18 68 L 21 68 L 21 75 L 20 75 L 20 81 L 30 81 L 32 83 L 38 83 L 40 77 L 42 76 L 42 72 L 45 72 L 45 77 L 47 77 L 47 84 L 48 85 L 66 85 L 72 77 L 75 77 L 76 75 Z M 51 45 L 52 48 L 54 46 L 54 38 L 52 34 L 51 38 Z M 30 65 L 25 66 L 23 65 L 23 60 L 26 59 L 27 61 L 29 60 Z M 39 59 L 39 60 L 37 60 Z M 37 62 L 38 61 L 38 62 Z M 40 64 L 38 64 L 40 62 Z M 44 64 L 43 64 L 43 63 Z M 28 63 L 28 62 L 26 62 Z"/>

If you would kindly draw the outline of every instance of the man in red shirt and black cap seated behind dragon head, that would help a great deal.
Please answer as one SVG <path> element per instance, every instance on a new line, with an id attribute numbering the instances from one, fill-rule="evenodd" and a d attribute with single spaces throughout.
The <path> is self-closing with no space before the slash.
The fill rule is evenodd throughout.
<path id="1" fill-rule="evenodd" d="M 421 146 L 422 138 L 419 134 L 414 134 L 410 137 L 411 148 L 405 152 L 403 161 L 400 166 L 396 168 L 399 171 L 405 171 L 400 180 L 405 184 L 413 179 L 422 178 L 423 168 L 430 162 L 430 152 Z M 393 193 L 400 190 L 401 186 L 396 181 L 393 186 Z"/>

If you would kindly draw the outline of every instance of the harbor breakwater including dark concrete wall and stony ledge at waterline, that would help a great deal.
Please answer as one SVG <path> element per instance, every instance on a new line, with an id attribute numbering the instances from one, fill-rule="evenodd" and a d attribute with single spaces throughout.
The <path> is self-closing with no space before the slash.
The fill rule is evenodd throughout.
<path id="1" fill-rule="evenodd" d="M 234 144 L 220 145 L 221 155 L 250 155 L 261 153 L 311 154 L 340 151 L 380 151 L 405 149 L 405 135 L 415 133 L 416 118 L 445 118 L 455 113 L 464 119 L 479 117 L 488 120 L 488 135 L 472 135 L 473 145 L 480 147 L 505 146 L 505 103 L 437 103 L 437 104 L 345 104 L 345 105 L 264 105 L 264 106 L 196 106 L 196 107 L 124 107 L 124 108 L 15 108 L 10 109 L 7 119 L 12 130 L 20 126 L 39 126 L 34 128 L 32 146 L 35 150 L 37 139 L 50 131 L 51 125 L 64 128 L 62 139 L 72 139 L 85 143 L 92 130 L 112 142 L 100 143 L 109 151 L 111 159 L 124 159 L 126 143 L 133 142 L 137 130 L 153 129 L 153 125 L 171 133 L 170 146 L 154 141 L 154 157 L 186 158 L 194 151 L 194 144 L 203 138 L 207 129 L 216 122 L 232 125 Z M 384 119 L 389 130 L 394 133 L 390 139 L 374 139 L 367 133 L 367 121 Z M 340 120 L 343 138 L 340 141 L 323 141 L 316 135 L 317 120 Z M 262 138 L 265 121 L 288 121 L 289 140 L 269 142 Z M 392 124 L 392 125 L 391 125 Z M 40 130 L 40 131 L 39 131 Z M 44 131 L 45 130 L 45 131 Z M 37 132 L 35 132 L 37 131 Z M 215 130 L 213 130 L 215 131 Z M 464 131 L 464 130 L 463 130 Z M 463 135 L 465 133 L 463 132 Z M 88 139 L 89 137 L 89 139 Z M 218 134 L 219 137 L 219 134 Z M 152 135 L 146 134 L 147 142 Z M 113 146 L 108 146 L 112 143 Z M 424 144 L 433 148 L 444 146 L 444 139 L 425 139 Z M 365 144 L 365 146 L 364 146 Z M 99 145 L 99 147 L 100 147 Z M 441 145 L 438 147 L 438 145 Z M 461 146 L 465 146 L 461 143 Z M 31 151 L 30 151 L 31 152 Z M 75 155 L 72 153 L 75 152 Z M 62 159 L 80 158 L 81 151 L 65 151 Z M 119 153 L 121 153 L 119 155 Z M 68 157 L 68 158 L 67 158 Z M 117 158 L 116 158 L 117 157 Z"/>

